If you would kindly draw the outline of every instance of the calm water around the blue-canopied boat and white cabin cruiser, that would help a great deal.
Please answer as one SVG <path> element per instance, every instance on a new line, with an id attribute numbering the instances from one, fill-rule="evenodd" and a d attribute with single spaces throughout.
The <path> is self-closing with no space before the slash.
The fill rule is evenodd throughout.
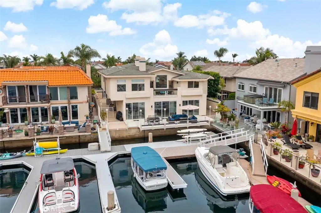
<path id="1" fill-rule="evenodd" d="M 184 193 L 174 194 L 168 189 L 146 192 L 133 177 L 130 158 L 111 164 L 109 169 L 122 212 L 249 212 L 248 194 L 242 198 L 221 198 L 205 179 L 197 162 L 177 162 L 171 166 L 187 183 Z"/>

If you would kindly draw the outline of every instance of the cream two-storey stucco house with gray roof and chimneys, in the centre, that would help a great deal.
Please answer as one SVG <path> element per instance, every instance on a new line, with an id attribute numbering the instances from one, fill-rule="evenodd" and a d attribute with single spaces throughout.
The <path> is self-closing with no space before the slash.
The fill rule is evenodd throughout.
<path id="1" fill-rule="evenodd" d="M 98 73 L 102 89 L 124 120 L 187 114 L 180 106 L 188 104 L 199 106 L 189 115 L 206 115 L 207 80 L 213 79 L 209 75 L 148 66 L 139 56 L 135 63 Z"/>

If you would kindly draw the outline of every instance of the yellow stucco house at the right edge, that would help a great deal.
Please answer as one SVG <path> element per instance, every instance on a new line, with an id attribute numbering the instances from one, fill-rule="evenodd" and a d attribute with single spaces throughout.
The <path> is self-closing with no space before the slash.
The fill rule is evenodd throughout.
<path id="1" fill-rule="evenodd" d="M 295 109 L 292 116 L 300 119 L 302 133 L 315 136 L 321 143 L 321 69 L 291 83 L 297 89 Z"/>

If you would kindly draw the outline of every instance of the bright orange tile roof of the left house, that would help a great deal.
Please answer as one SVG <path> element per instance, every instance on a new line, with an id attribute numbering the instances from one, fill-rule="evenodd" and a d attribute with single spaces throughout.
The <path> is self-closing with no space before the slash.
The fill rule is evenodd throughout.
<path id="1" fill-rule="evenodd" d="M 48 86 L 89 85 L 93 82 L 78 67 L 21 67 L 0 69 L 0 86 L 6 81 L 48 81 Z"/>

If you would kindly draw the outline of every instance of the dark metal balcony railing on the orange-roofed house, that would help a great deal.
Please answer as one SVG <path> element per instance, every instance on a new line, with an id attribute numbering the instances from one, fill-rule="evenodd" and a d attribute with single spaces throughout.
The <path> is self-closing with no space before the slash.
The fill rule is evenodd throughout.
<path id="1" fill-rule="evenodd" d="M 26 104 L 44 104 L 49 103 L 49 95 L 37 96 L 3 96 L 3 105 L 26 105 Z"/>

